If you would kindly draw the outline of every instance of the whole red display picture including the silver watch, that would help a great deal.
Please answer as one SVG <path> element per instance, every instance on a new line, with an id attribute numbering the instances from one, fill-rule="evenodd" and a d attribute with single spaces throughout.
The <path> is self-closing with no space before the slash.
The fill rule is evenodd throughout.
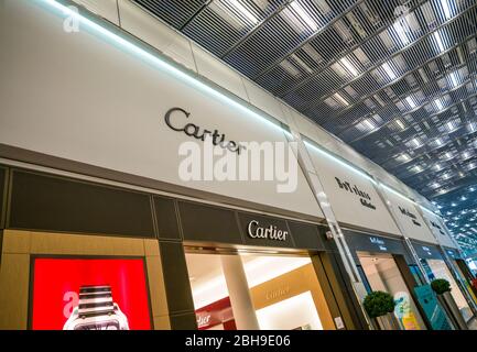
<path id="1" fill-rule="evenodd" d="M 34 330 L 149 330 L 142 258 L 33 258 Z"/>

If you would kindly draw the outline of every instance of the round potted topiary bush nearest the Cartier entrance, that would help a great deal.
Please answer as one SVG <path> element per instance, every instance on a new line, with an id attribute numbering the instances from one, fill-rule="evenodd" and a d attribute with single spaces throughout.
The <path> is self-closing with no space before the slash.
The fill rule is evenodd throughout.
<path id="1" fill-rule="evenodd" d="M 362 305 L 366 312 L 382 330 L 398 330 L 394 318 L 394 298 L 384 292 L 375 290 L 366 296 Z"/>

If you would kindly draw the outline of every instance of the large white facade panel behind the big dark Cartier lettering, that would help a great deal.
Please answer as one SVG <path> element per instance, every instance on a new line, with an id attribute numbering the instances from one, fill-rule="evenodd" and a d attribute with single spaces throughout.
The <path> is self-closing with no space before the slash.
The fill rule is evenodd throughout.
<path id="1" fill-rule="evenodd" d="M 45 9 L 25 1 L 6 1 L 2 8 L 0 42 L 9 51 L 0 52 L 0 143 L 323 218 L 300 168 L 292 193 L 278 193 L 283 183 L 277 178 L 181 179 L 180 146 L 197 142 L 204 152 L 206 143 L 172 130 L 164 119 L 171 108 L 191 113 L 173 116 L 175 128 L 193 123 L 202 132 L 217 130 L 225 141 L 284 142 L 285 135 L 111 36 L 91 29 L 65 33 L 62 19 Z M 263 169 L 264 158 L 261 163 Z"/>

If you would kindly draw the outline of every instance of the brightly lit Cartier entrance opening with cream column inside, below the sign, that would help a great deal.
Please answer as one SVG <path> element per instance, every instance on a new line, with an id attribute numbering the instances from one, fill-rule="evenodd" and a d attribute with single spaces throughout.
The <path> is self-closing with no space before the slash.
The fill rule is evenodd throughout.
<path id="1" fill-rule="evenodd" d="M 307 255 L 186 248 L 186 263 L 200 330 L 334 329 Z"/>

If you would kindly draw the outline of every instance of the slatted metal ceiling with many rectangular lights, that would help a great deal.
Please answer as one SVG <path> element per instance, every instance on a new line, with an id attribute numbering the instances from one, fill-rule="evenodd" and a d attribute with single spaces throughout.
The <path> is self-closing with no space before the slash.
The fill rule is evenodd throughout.
<path id="1" fill-rule="evenodd" d="M 477 184 L 475 0 L 134 1 L 424 196 Z"/>

